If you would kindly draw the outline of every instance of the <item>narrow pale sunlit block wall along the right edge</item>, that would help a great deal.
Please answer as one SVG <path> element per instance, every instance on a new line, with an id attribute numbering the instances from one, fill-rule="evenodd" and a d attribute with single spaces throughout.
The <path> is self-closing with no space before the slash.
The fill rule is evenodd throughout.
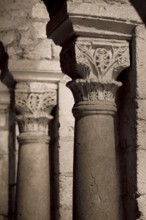
<path id="1" fill-rule="evenodd" d="M 136 54 L 136 131 L 137 131 L 137 202 L 140 220 L 146 219 L 146 28 L 139 26 L 135 33 Z"/>

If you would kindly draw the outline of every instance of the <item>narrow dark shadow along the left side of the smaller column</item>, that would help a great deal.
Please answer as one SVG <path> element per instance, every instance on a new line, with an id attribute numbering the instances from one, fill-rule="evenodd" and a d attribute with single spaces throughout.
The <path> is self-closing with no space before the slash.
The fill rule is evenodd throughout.
<path id="1" fill-rule="evenodd" d="M 10 91 L 10 107 L 9 107 L 9 204 L 8 218 L 14 219 L 15 212 L 15 192 L 16 192 L 16 134 L 15 134 L 15 111 L 14 111 L 14 86 L 15 80 L 8 69 L 9 56 L 5 51 L 3 43 L 0 41 L 0 80 L 9 88 Z"/>

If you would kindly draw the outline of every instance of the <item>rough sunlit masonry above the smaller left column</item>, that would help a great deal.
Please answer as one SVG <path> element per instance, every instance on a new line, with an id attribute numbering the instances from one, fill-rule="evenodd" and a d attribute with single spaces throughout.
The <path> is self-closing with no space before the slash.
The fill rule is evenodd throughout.
<path id="1" fill-rule="evenodd" d="M 7 49 L 12 69 L 23 69 L 26 65 L 27 69 L 59 69 L 55 62 L 59 49 L 46 38 L 48 20 L 42 1 L 0 2 L 0 39 Z"/>

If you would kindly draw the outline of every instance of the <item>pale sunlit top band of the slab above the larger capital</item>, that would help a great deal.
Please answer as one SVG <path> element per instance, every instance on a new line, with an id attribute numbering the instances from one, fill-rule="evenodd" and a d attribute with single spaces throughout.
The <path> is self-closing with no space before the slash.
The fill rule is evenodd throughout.
<path id="1" fill-rule="evenodd" d="M 96 1 L 96 0 L 95 0 Z M 107 4 L 106 0 L 93 3 L 77 3 L 69 2 L 69 13 L 98 16 L 101 18 L 112 18 L 117 20 L 134 21 L 142 23 L 142 20 L 134 7 L 129 7 L 129 4 L 121 4 L 121 1 L 116 1 L 116 4 Z M 114 2 L 109 0 L 109 3 Z M 127 2 L 128 3 L 128 2 Z M 120 7 L 119 7 L 120 5 Z"/>

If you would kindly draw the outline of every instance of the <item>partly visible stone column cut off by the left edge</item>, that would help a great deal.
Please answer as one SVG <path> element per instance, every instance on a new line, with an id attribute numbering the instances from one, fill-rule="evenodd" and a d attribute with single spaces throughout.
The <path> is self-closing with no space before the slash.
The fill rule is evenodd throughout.
<path id="1" fill-rule="evenodd" d="M 9 106 L 9 89 L 0 82 L 0 220 L 8 217 Z"/>

